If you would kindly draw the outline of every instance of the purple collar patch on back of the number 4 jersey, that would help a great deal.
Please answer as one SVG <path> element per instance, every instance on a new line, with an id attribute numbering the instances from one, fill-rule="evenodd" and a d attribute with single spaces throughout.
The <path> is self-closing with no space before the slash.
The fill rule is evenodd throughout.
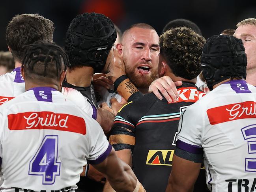
<path id="1" fill-rule="evenodd" d="M 33 90 L 37 101 L 52 102 L 52 91 L 56 89 L 50 87 L 36 87 L 28 90 Z"/>

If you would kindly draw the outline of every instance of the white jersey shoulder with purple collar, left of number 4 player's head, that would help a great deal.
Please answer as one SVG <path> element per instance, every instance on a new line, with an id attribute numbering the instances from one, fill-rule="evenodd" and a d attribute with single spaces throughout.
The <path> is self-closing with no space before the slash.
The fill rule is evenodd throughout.
<path id="1" fill-rule="evenodd" d="M 21 67 L 0 76 L 0 105 L 24 93 L 24 91 L 25 82 L 21 76 Z"/>

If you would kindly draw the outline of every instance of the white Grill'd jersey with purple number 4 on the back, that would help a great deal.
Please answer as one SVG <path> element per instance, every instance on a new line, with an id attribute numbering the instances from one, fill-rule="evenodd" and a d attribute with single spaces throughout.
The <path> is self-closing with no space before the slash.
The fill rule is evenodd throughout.
<path id="1" fill-rule="evenodd" d="M 94 119 L 45 87 L 0 106 L 0 145 L 4 192 L 74 190 L 82 167 L 112 149 Z"/>

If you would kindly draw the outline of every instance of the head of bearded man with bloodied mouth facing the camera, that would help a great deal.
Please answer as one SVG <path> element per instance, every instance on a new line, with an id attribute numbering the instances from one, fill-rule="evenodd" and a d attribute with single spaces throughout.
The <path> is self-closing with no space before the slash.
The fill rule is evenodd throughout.
<path id="1" fill-rule="evenodd" d="M 159 37 L 155 30 L 134 27 L 123 36 L 118 52 L 125 63 L 125 72 L 135 86 L 148 93 L 148 87 L 157 78 Z"/>

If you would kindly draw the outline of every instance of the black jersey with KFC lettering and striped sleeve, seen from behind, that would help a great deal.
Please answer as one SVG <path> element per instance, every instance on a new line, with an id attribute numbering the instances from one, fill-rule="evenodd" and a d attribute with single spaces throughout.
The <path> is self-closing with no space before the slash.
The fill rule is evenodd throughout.
<path id="1" fill-rule="evenodd" d="M 165 191 L 172 169 L 180 115 L 187 106 L 205 95 L 188 82 L 183 82 L 177 89 L 177 102 L 168 103 L 166 99 L 159 100 L 149 93 L 124 106 L 114 121 L 109 141 L 115 150 L 132 150 L 135 175 L 149 192 Z M 201 172 L 195 192 L 208 191 L 205 171 L 202 169 Z"/>

